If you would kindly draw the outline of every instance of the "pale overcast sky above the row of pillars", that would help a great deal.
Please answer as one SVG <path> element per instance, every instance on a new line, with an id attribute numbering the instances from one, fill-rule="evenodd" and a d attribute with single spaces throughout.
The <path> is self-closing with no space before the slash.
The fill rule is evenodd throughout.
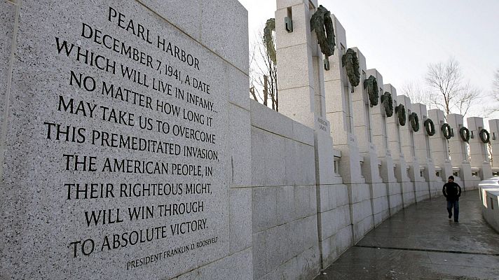
<path id="1" fill-rule="evenodd" d="M 273 0 L 239 0 L 248 10 L 250 42 L 268 18 Z M 464 76 L 483 94 L 491 92 L 499 69 L 498 0 L 323 0 L 346 29 L 348 48 L 365 55 L 367 68 L 376 68 L 384 83 L 397 89 L 411 81 L 424 83 L 430 62 L 450 56 Z M 485 97 L 483 104 L 491 99 Z M 473 111 L 480 111 L 476 106 Z M 499 107 L 499 106 L 498 106 Z M 499 118 L 499 113 L 494 114 Z"/>

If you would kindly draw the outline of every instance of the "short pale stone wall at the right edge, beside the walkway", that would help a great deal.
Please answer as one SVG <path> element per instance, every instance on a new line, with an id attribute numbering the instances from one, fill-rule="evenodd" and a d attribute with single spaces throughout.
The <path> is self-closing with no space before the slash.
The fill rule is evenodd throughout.
<path id="1" fill-rule="evenodd" d="M 481 214 L 499 232 L 499 177 L 480 182 Z"/>

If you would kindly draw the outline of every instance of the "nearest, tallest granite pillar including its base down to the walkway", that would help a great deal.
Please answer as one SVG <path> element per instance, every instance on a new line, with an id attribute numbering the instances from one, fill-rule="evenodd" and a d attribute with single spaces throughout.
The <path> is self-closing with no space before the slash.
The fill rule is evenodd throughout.
<path id="1" fill-rule="evenodd" d="M 310 17 L 315 13 L 317 1 L 276 2 L 279 111 L 315 130 L 319 244 L 314 253 L 319 254 L 320 251 L 320 265 L 325 268 L 353 244 L 353 227 L 350 221 L 350 195 L 334 168 L 334 155 L 340 155 L 340 152 L 334 151 L 331 138 L 334 127 L 331 128 L 326 118 L 323 55 L 315 32 L 310 32 Z M 292 32 L 285 29 L 286 17 L 292 19 Z M 341 155 L 343 158 L 343 153 Z M 336 218 L 340 214 L 345 218 Z"/>

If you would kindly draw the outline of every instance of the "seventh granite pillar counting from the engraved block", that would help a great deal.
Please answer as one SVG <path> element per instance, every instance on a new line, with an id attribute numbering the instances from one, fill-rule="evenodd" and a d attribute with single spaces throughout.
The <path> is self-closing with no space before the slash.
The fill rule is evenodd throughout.
<path id="1" fill-rule="evenodd" d="M 430 197 L 435 197 L 442 188 L 442 180 L 435 174 L 435 164 L 432 159 L 432 151 L 430 149 L 430 136 L 425 129 L 425 120 L 428 119 L 426 105 L 421 103 L 411 104 L 413 112 L 418 114 L 419 130 L 414 132 L 414 144 L 416 144 L 416 158 L 420 167 L 423 170 L 423 179 L 428 183 Z M 410 123 L 409 123 L 410 126 Z M 435 131 L 437 127 L 435 127 Z M 435 136 L 435 135 L 434 135 Z"/>

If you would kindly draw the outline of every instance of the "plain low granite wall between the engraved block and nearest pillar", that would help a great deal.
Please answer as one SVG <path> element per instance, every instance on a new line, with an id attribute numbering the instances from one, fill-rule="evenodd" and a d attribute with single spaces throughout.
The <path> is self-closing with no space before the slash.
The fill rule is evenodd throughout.
<path id="1" fill-rule="evenodd" d="M 314 132 L 251 102 L 253 279 L 320 271 Z"/>

